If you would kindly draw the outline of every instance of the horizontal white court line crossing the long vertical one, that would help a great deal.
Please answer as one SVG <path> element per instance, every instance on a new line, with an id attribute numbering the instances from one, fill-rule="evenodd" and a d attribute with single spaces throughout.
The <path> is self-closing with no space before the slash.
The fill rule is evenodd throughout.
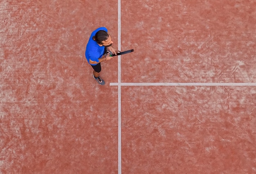
<path id="1" fill-rule="evenodd" d="M 256 83 L 110 83 L 110 86 L 256 86 Z"/>

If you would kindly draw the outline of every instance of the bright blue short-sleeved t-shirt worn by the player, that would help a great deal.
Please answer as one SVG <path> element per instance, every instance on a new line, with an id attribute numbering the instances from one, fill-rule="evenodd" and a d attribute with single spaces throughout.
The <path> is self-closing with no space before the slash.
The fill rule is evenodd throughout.
<path id="1" fill-rule="evenodd" d="M 103 56 L 105 51 L 105 46 L 99 46 L 99 44 L 96 41 L 92 40 L 92 37 L 100 30 L 104 30 L 108 32 L 108 29 L 106 29 L 105 27 L 100 27 L 96 29 L 95 31 L 92 32 L 90 39 L 88 41 L 88 44 L 86 46 L 85 57 L 89 64 L 90 64 L 89 59 L 91 59 L 92 61 L 99 62 L 99 58 Z M 97 65 L 97 64 L 91 64 L 91 65 Z"/>

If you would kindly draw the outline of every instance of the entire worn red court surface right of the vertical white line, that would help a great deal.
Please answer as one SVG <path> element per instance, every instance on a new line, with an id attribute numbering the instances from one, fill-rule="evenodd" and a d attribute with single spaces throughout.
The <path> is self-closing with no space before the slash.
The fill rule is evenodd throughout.
<path id="1" fill-rule="evenodd" d="M 255 173 L 255 1 L 122 7 L 122 172 Z"/>

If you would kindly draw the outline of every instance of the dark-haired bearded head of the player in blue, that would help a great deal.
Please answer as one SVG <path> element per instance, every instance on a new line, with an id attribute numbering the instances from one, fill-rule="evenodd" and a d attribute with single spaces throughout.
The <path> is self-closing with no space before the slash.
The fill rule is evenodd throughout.
<path id="1" fill-rule="evenodd" d="M 113 43 L 112 37 L 104 30 L 98 31 L 92 39 L 100 46 L 111 46 Z"/>

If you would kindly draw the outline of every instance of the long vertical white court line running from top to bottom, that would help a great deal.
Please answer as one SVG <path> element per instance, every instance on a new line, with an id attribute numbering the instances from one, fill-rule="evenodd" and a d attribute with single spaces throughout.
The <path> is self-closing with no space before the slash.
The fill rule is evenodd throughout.
<path id="1" fill-rule="evenodd" d="M 118 50 L 121 50 L 121 0 L 118 0 Z M 121 55 L 118 56 L 118 83 L 121 83 Z M 122 173 L 122 156 L 121 156 L 121 86 L 118 85 L 118 174 Z"/>

